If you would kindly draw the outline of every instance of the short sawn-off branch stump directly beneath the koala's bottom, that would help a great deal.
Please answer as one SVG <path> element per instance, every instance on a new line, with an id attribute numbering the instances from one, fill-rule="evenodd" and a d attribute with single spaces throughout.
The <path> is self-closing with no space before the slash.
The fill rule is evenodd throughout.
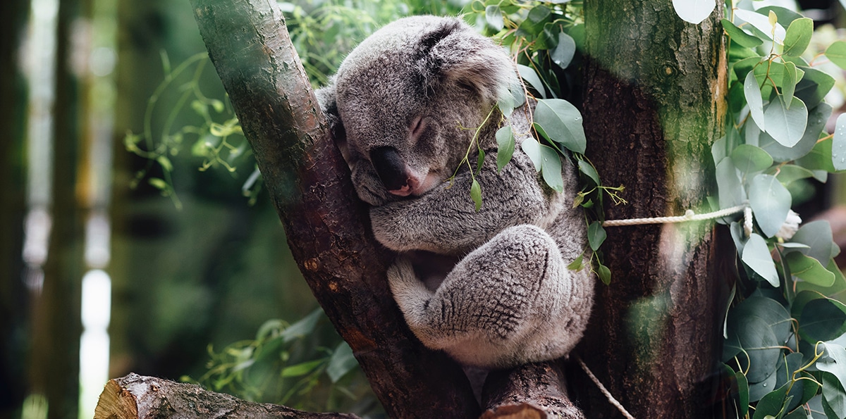
<path id="1" fill-rule="evenodd" d="M 584 419 L 570 402 L 564 374 L 557 362 L 526 364 L 511 370 L 493 371 L 482 389 L 481 419 L 497 417 Z"/>

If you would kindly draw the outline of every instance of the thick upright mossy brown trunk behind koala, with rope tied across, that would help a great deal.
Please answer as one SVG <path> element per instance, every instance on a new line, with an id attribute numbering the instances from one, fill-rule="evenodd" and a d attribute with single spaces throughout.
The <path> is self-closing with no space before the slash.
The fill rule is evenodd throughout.
<path id="1" fill-rule="evenodd" d="M 671 0 L 585 1 L 587 155 L 629 201 L 607 205 L 608 220 L 700 212 L 713 193 L 710 147 L 726 106 L 720 16 L 693 25 Z M 635 417 L 710 416 L 728 302 L 714 224 L 609 227 L 602 253 L 612 282 L 598 286 L 585 362 Z M 618 412 L 592 390 L 587 416 Z"/>

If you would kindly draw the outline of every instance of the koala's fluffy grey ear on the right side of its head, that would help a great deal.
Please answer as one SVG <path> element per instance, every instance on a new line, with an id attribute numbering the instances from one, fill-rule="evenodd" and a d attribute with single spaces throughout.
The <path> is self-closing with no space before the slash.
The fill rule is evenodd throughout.
<path id="1" fill-rule="evenodd" d="M 459 19 L 444 20 L 423 35 L 416 57 L 431 90 L 453 84 L 474 91 L 483 101 L 496 102 L 516 79 L 514 64 L 503 49 Z"/>

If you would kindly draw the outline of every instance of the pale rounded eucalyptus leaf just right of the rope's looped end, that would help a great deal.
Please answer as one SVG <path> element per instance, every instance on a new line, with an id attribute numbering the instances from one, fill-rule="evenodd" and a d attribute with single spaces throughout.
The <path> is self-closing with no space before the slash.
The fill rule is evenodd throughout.
<path id="1" fill-rule="evenodd" d="M 761 174 L 750 182 L 749 203 L 761 231 L 773 237 L 788 218 L 792 198 L 776 177 Z"/>

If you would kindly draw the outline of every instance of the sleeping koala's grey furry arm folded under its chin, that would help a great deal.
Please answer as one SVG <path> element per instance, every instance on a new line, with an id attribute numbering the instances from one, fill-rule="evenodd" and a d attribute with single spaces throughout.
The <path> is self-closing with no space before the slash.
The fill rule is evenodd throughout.
<path id="1" fill-rule="evenodd" d="M 495 150 L 487 153 L 475 176 L 481 185 L 482 204 L 476 212 L 470 199 L 470 171 L 460 171 L 428 193 L 371 209 L 376 240 L 397 251 L 428 250 L 465 253 L 487 242 L 508 226 L 534 224 L 549 206 L 535 167 L 520 150 L 497 173 Z"/>

